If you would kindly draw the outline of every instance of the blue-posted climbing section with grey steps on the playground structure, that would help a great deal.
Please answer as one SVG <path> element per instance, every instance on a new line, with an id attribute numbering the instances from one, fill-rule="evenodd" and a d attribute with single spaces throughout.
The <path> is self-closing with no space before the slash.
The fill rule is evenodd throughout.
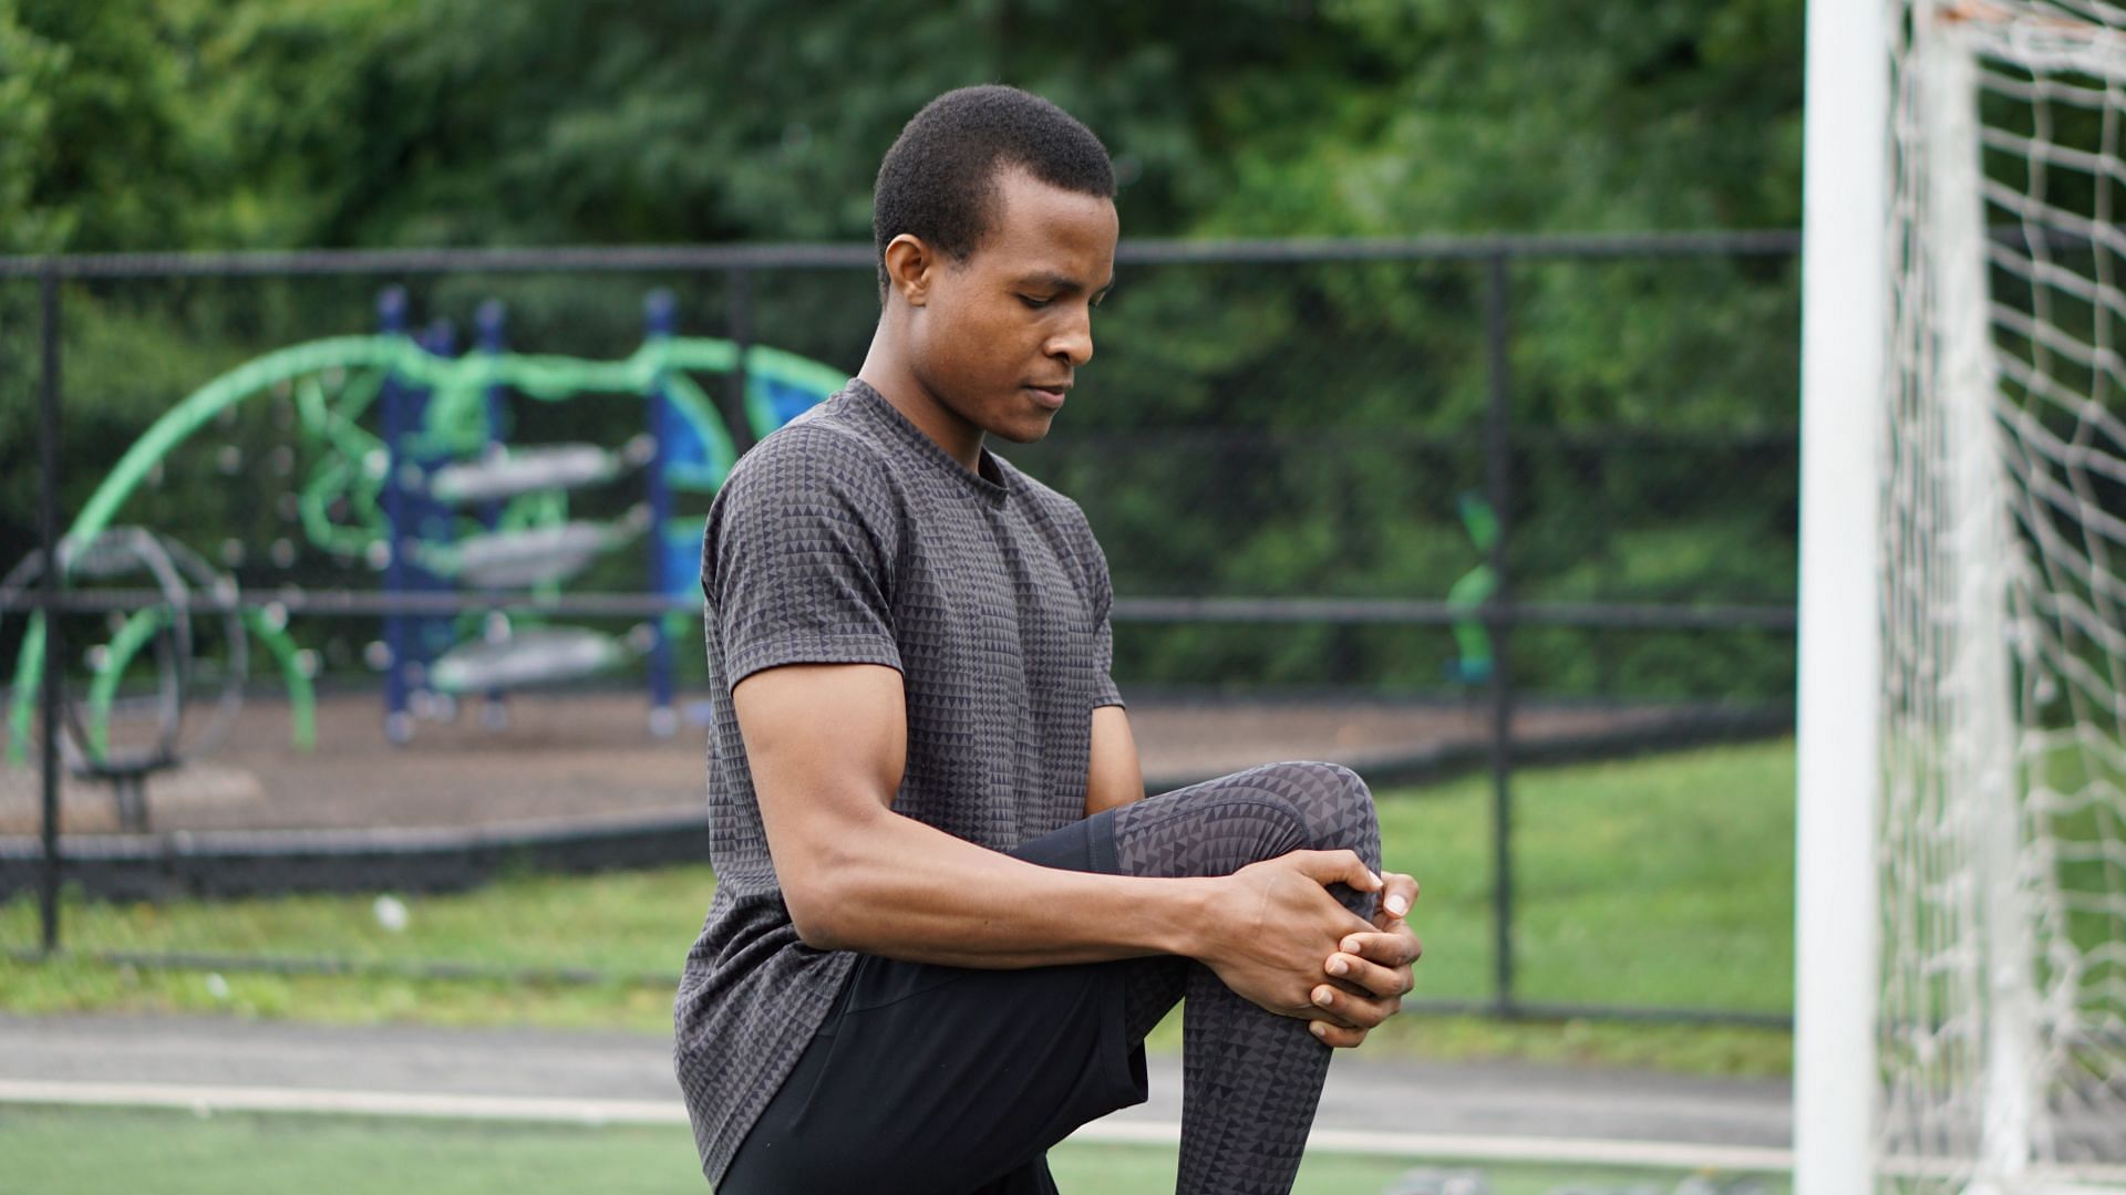
<path id="1" fill-rule="evenodd" d="M 402 336 L 406 298 L 387 291 L 378 304 L 383 332 Z M 699 364 L 712 344 L 678 342 L 676 310 L 665 291 L 644 304 L 646 347 L 672 351 L 676 364 Z M 451 359 L 446 325 L 432 327 L 423 349 Z M 676 351 L 674 351 L 676 349 Z M 476 357 L 504 359 L 504 313 L 495 302 L 478 313 Z M 842 385 L 842 376 L 795 359 L 753 355 L 759 385 L 748 385 L 746 417 L 763 436 Z M 542 398 L 574 381 L 600 389 L 580 366 L 540 359 Z M 570 378 L 570 374 L 576 374 Z M 519 383 L 523 385 L 523 383 Z M 676 515 L 685 493 L 714 493 L 736 451 L 716 408 L 672 368 L 659 364 L 638 381 L 646 398 L 644 432 L 619 449 L 600 444 L 510 444 L 510 395 L 504 374 L 461 378 L 402 378 L 387 372 L 383 406 L 381 512 L 385 593 L 432 593 L 457 587 L 483 593 L 521 591 L 551 595 L 610 553 L 648 536 L 644 589 L 691 595 L 699 512 Z M 570 500 L 587 489 L 640 476 L 640 502 L 619 519 L 570 515 Z M 485 693 L 487 725 L 506 725 L 510 689 L 568 685 L 610 672 L 642 657 L 655 736 L 678 729 L 672 704 L 674 617 L 651 619 L 625 636 L 587 627 L 557 627 L 532 617 L 487 615 L 468 619 L 391 615 L 372 657 L 385 670 L 385 734 L 408 742 L 423 714 L 455 717 L 457 700 Z M 374 646 L 374 644 L 372 644 Z"/>

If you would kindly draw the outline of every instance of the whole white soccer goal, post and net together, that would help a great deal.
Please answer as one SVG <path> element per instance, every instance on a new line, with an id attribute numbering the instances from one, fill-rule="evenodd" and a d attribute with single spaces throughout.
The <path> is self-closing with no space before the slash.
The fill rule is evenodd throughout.
<path id="1" fill-rule="evenodd" d="M 1801 1195 L 2126 1191 L 2126 6 L 1811 0 Z"/>

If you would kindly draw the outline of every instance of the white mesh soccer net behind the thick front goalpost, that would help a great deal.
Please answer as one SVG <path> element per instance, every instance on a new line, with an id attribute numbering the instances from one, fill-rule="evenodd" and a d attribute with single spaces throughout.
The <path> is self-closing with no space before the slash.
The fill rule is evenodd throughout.
<path id="1" fill-rule="evenodd" d="M 1867 1174 L 2126 1189 L 2126 6 L 1841 2 L 1890 9 Z"/>

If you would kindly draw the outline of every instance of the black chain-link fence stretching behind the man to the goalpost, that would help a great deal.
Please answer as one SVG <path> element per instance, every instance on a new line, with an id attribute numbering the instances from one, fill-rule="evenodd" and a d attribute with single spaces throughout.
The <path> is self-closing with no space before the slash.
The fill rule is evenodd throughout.
<path id="1" fill-rule="evenodd" d="M 1552 974 L 1516 853 L 1629 846 L 1516 787 L 1784 734 L 1796 247 L 1125 245 L 1069 410 L 1001 451 L 1106 546 L 1154 787 L 1482 776 L 1441 1006 L 1779 1021 L 1784 984 L 1646 980 L 1658 925 Z M 21 259 L 0 317 L 0 950 L 670 982 L 712 882 L 699 521 L 861 361 L 867 247 Z M 655 925 L 551 931 L 566 876 L 644 868 L 687 893 Z M 404 931 L 495 880 L 510 916 Z"/>

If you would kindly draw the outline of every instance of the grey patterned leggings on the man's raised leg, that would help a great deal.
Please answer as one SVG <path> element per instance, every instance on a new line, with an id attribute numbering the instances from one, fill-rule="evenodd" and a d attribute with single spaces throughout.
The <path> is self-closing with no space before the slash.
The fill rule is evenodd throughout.
<path id="1" fill-rule="evenodd" d="M 1123 806 L 1114 853 L 1127 876 L 1229 876 L 1288 851 L 1356 851 L 1380 872 L 1373 797 L 1348 768 L 1269 763 Z M 1331 889 L 1359 916 L 1373 895 Z M 1131 1044 L 1186 997 L 1182 1157 L 1176 1191 L 1288 1191 L 1314 1125 L 1329 1046 L 1305 1021 L 1235 995 L 1188 959 L 1127 963 Z"/>

